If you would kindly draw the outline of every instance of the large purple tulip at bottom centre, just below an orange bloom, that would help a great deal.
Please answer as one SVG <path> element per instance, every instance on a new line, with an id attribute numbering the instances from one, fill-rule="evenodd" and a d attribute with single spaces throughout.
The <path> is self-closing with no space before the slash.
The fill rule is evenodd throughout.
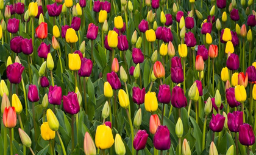
<path id="1" fill-rule="evenodd" d="M 171 146 L 171 139 L 170 131 L 167 126 L 158 126 L 154 135 L 153 143 L 157 150 L 169 150 Z"/>

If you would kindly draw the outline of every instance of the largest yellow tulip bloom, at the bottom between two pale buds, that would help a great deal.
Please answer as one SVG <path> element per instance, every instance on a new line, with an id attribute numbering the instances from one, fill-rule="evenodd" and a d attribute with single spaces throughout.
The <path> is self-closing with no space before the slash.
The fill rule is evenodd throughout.
<path id="1" fill-rule="evenodd" d="M 105 150 L 110 148 L 113 143 L 114 138 L 110 127 L 106 125 L 99 125 L 95 134 L 96 147 L 101 150 Z"/>

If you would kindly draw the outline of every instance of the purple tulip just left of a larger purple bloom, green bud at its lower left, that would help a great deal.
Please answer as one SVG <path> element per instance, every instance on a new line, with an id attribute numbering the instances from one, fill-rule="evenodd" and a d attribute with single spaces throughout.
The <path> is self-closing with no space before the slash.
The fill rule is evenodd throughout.
<path id="1" fill-rule="evenodd" d="M 50 86 L 48 93 L 48 101 L 52 105 L 62 104 L 62 88 L 58 86 Z"/>

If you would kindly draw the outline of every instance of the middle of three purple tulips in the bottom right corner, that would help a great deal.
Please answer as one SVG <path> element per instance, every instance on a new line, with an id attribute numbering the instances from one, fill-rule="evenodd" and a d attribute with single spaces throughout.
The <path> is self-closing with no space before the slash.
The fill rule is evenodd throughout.
<path id="1" fill-rule="evenodd" d="M 233 111 L 227 114 L 227 126 L 231 132 L 237 133 L 240 125 L 243 125 L 243 112 Z"/>

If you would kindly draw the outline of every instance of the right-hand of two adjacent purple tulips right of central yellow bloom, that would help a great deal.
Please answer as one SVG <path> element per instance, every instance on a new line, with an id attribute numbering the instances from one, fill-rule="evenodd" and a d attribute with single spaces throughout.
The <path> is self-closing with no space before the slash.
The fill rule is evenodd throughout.
<path id="1" fill-rule="evenodd" d="M 171 105 L 175 108 L 182 108 L 188 105 L 184 91 L 179 86 L 174 86 L 171 94 Z"/>

